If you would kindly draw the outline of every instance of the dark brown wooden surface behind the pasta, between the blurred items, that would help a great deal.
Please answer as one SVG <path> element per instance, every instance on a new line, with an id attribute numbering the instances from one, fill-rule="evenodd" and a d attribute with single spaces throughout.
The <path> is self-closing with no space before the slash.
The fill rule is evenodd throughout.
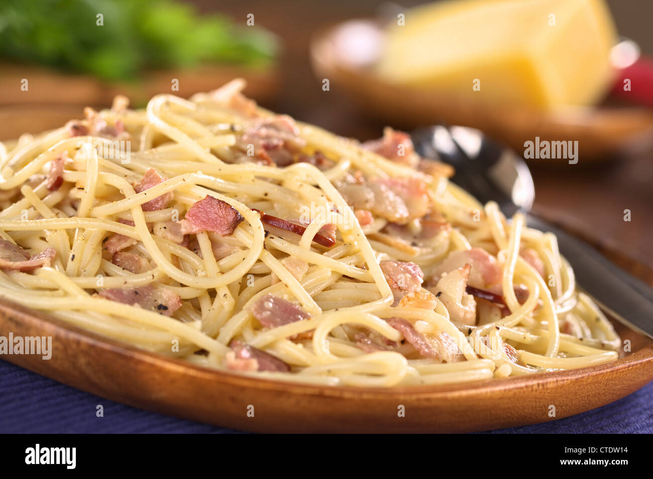
<path id="1" fill-rule="evenodd" d="M 384 126 L 356 106 L 342 93 L 322 91 L 309 61 L 309 44 L 317 31 L 349 18 L 379 13 L 383 2 L 247 0 L 243 2 L 195 0 L 202 11 L 219 10 L 245 22 L 247 14 L 255 24 L 279 35 L 284 55 L 281 90 L 275 100 L 263 106 L 289 113 L 297 119 L 323 126 L 338 134 L 358 139 L 379 136 Z M 397 2 L 410 6 L 415 0 Z M 609 2 L 620 34 L 633 38 L 643 52 L 653 54 L 650 27 L 643 21 L 653 14 L 653 3 Z M 623 248 L 641 263 L 653 266 L 653 152 L 626 155 L 606 162 L 552 167 L 531 164 L 535 181 L 535 208 L 559 220 L 574 231 L 584 231 L 598 244 Z M 545 162 L 546 160 L 541 160 Z M 631 221 L 624 221 L 624 210 Z"/>

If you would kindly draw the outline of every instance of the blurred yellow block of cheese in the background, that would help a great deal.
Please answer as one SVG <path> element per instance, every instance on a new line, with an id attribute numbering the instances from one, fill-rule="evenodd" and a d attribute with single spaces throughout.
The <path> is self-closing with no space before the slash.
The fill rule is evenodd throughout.
<path id="1" fill-rule="evenodd" d="M 387 27 L 377 73 L 473 102 L 537 110 L 589 105 L 612 78 L 603 0 L 458 0 Z"/>

